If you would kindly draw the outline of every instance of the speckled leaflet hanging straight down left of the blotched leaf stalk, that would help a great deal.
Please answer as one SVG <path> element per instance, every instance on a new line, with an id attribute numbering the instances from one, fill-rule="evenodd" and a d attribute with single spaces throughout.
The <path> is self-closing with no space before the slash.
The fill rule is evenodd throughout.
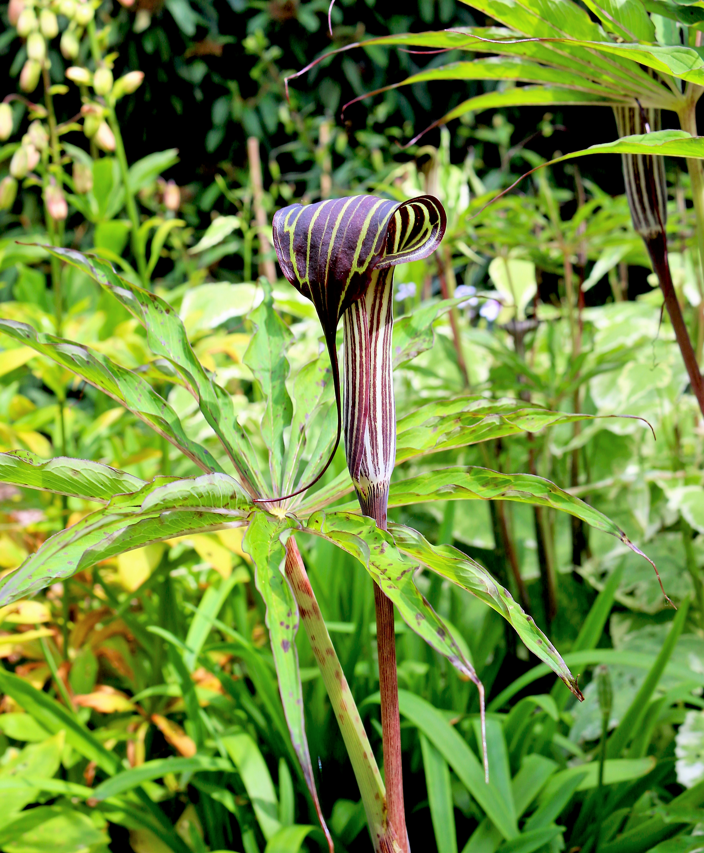
<path id="1" fill-rule="evenodd" d="M 256 567 L 255 583 L 266 605 L 266 626 L 269 629 L 271 652 L 276 663 L 279 693 L 281 693 L 283 711 L 288 723 L 288 732 L 303 770 L 305 784 L 315 804 L 318 820 L 332 853 L 332 839 L 318 802 L 311 754 L 308 750 L 308 739 L 305 736 L 303 688 L 300 682 L 296 647 L 299 610 L 285 573 L 282 571 L 286 555 L 279 537 L 287 528 L 288 525 L 273 519 L 270 515 L 255 512 L 247 528 L 242 548 L 252 557 Z"/>

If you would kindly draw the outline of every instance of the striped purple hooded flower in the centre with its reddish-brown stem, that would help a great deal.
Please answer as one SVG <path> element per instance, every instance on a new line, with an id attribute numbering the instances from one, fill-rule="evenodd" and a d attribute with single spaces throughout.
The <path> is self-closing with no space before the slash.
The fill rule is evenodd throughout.
<path id="1" fill-rule="evenodd" d="M 315 305 L 328 345 L 338 419 L 333 454 L 344 415 L 347 467 L 359 505 L 382 529 L 387 526 L 388 488 L 396 456 L 393 267 L 434 252 L 445 234 L 445 222 L 443 206 L 431 195 L 401 204 L 358 195 L 291 205 L 274 217 L 274 246 L 283 274 Z M 335 343 L 340 317 L 344 407 Z M 393 604 L 376 584 L 375 606 L 388 821 L 401 849 L 408 850 Z"/>

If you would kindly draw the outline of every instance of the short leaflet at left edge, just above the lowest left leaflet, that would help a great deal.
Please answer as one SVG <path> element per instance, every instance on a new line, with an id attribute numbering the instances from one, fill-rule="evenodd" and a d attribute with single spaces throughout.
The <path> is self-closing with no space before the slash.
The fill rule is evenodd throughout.
<path id="1" fill-rule="evenodd" d="M 0 481 L 106 503 L 113 495 L 145 485 L 144 480 L 101 462 L 67 456 L 44 461 L 29 450 L 0 453 Z"/>

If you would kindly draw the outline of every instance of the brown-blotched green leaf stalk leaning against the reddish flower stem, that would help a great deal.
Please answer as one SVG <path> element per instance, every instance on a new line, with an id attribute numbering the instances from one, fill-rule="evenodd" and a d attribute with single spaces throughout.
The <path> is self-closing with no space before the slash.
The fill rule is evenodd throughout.
<path id="1" fill-rule="evenodd" d="M 347 754 L 352 763 L 375 851 L 376 853 L 400 853 L 401 848 L 394 843 L 393 833 L 389 831 L 386 792 L 376 766 L 374 752 L 293 536 L 289 537 L 286 543 L 285 567 L 288 583 L 294 590 L 294 597 L 299 607 L 300 620 L 311 643 L 311 649 L 323 676 L 323 684 L 328 691 L 330 704 L 340 726 L 342 740 L 345 741 Z"/>

